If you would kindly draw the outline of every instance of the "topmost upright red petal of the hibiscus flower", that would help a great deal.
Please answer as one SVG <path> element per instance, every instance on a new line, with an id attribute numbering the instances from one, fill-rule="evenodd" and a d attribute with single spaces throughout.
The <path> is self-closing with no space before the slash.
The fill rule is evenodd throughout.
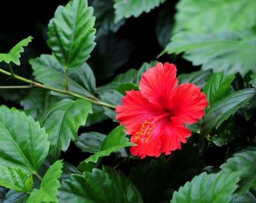
<path id="1" fill-rule="evenodd" d="M 150 68 L 143 73 L 140 81 L 141 94 L 148 100 L 169 109 L 168 101 L 173 95 L 178 80 L 176 78 L 174 64 L 157 63 L 156 67 Z"/>

